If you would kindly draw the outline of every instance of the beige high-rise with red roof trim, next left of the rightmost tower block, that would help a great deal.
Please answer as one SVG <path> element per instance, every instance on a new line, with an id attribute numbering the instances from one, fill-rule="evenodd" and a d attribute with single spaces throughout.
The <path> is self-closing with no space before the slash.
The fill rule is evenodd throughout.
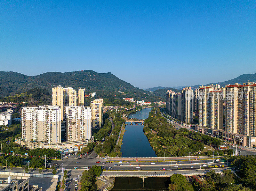
<path id="1" fill-rule="evenodd" d="M 199 126 L 222 129 L 223 93 L 212 87 L 199 89 Z"/>

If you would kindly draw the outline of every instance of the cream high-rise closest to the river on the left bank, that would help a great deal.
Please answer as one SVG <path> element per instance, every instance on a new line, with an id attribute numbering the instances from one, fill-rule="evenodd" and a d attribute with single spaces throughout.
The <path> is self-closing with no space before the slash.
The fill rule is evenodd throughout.
<path id="1" fill-rule="evenodd" d="M 92 107 L 92 127 L 101 128 L 103 122 L 103 99 L 94 99 Z"/>

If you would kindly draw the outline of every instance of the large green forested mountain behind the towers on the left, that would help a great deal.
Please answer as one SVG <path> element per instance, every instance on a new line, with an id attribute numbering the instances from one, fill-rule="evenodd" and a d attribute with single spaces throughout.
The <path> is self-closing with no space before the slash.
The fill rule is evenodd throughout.
<path id="1" fill-rule="evenodd" d="M 72 87 L 76 90 L 85 88 L 87 92 L 96 92 L 100 98 L 133 97 L 135 100 L 161 100 L 151 92 L 136 88 L 110 72 L 103 74 L 92 70 L 47 72 L 37 76 L 26 76 L 17 72 L 0 72 L 0 97 L 27 92 L 33 88 L 44 88 L 51 92 L 52 87 L 58 85 L 64 88 Z"/>

